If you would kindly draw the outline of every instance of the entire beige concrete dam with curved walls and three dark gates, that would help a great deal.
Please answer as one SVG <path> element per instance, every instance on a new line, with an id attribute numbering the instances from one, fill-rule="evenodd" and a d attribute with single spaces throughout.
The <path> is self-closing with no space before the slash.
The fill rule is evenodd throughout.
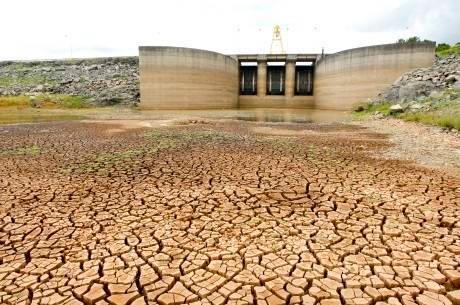
<path id="1" fill-rule="evenodd" d="M 429 67 L 434 42 L 334 54 L 224 55 L 139 47 L 141 109 L 316 108 L 350 110 L 402 74 Z"/>

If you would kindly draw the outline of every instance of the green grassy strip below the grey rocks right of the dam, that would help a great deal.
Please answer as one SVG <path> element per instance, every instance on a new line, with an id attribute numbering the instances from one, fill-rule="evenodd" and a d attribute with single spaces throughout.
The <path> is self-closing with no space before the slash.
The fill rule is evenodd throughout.
<path id="1" fill-rule="evenodd" d="M 460 91 L 447 89 L 436 97 L 419 98 L 416 101 L 421 107 L 410 108 L 410 103 L 402 103 L 402 113 L 390 112 L 390 103 L 363 104 L 357 107 L 353 115 L 356 119 L 366 119 L 379 113 L 405 121 L 419 122 L 449 129 L 460 130 Z"/>

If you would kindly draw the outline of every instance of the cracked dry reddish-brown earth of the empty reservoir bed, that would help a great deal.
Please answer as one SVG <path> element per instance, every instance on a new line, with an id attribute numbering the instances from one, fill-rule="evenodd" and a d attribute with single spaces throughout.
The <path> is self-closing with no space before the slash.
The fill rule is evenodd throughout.
<path id="1" fill-rule="evenodd" d="M 458 178 L 267 125 L 0 127 L 0 303 L 459 304 Z"/>

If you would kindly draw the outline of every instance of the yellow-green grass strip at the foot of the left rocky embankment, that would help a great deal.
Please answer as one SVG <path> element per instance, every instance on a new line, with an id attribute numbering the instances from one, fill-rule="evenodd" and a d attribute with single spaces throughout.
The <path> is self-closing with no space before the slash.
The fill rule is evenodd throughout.
<path id="1" fill-rule="evenodd" d="M 41 94 L 38 96 L 0 96 L 0 107 L 19 108 L 88 108 L 90 104 L 85 97 L 63 94 Z"/>

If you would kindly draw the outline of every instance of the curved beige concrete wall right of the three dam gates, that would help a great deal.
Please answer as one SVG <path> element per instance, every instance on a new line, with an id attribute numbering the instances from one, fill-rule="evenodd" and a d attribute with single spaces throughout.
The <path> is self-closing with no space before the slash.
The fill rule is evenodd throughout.
<path id="1" fill-rule="evenodd" d="M 349 110 L 375 97 L 402 74 L 430 67 L 436 43 L 395 43 L 326 55 L 315 68 L 315 108 Z"/>

